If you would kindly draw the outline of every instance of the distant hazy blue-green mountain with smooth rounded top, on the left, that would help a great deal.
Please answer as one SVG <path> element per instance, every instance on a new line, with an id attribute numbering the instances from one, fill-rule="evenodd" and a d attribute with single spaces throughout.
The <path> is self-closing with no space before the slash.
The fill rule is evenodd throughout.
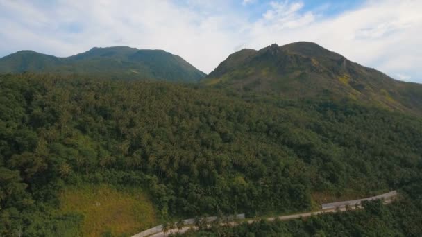
<path id="1" fill-rule="evenodd" d="M 178 55 L 126 46 L 93 48 L 67 58 L 34 51 L 18 51 L 0 58 L 0 73 L 25 71 L 184 82 L 196 82 L 205 76 Z"/>

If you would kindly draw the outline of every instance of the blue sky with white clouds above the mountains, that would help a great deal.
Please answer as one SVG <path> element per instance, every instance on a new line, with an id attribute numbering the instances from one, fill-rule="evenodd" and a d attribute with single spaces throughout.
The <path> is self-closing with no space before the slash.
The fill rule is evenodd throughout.
<path id="1" fill-rule="evenodd" d="M 230 53 L 317 44 L 422 83 L 422 0 L 0 0 L 0 57 L 164 49 L 210 73 Z"/>

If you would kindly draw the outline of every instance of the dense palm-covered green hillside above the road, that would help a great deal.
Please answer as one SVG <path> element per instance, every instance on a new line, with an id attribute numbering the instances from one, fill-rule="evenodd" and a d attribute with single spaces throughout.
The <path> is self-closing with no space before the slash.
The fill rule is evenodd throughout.
<path id="1" fill-rule="evenodd" d="M 85 233 L 83 212 L 57 210 L 69 187 L 91 184 L 141 188 L 158 220 L 304 211 L 392 189 L 420 208 L 421 144 L 420 117 L 353 100 L 3 75 L 0 236 Z"/>

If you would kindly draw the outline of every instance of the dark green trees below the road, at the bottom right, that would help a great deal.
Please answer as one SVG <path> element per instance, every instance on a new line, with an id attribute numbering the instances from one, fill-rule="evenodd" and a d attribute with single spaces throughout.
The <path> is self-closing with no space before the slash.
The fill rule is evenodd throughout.
<path id="1" fill-rule="evenodd" d="M 379 200 L 364 209 L 312 216 L 302 220 L 267 222 L 236 227 L 213 225 L 174 236 L 421 236 L 422 206 L 400 200 L 388 206 Z"/>

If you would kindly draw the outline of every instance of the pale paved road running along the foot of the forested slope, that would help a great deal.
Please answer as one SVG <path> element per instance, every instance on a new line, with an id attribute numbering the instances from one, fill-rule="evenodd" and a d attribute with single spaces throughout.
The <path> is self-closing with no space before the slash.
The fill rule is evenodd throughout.
<path id="1" fill-rule="evenodd" d="M 391 199 L 390 200 L 385 200 L 384 203 L 385 204 L 388 204 L 390 202 L 392 202 Z M 354 210 L 354 209 L 356 209 L 356 207 L 349 207 L 348 208 L 348 210 Z M 292 219 L 298 219 L 298 218 L 307 218 L 307 217 L 310 217 L 312 215 L 319 215 L 319 214 L 323 214 L 323 213 L 333 213 L 333 212 L 337 212 L 337 211 L 346 211 L 346 207 L 341 207 L 341 208 L 338 208 L 338 209 L 335 209 L 335 208 L 333 208 L 333 209 L 325 209 L 323 211 L 305 212 L 305 213 L 299 213 L 299 214 L 287 215 L 287 216 L 276 216 L 276 217 L 267 218 L 266 220 L 268 220 L 268 221 L 274 221 L 276 219 L 279 219 L 279 220 L 292 220 Z M 254 221 L 255 220 L 248 220 L 247 222 L 248 222 L 248 224 L 252 224 Z M 221 224 L 221 225 L 231 225 L 231 226 L 234 227 L 236 225 L 239 225 L 239 223 L 242 223 L 242 222 L 244 222 L 244 221 L 229 222 L 229 223 Z M 197 230 L 198 227 L 192 226 L 192 227 L 183 227 L 182 229 L 171 229 L 171 231 L 167 231 L 166 233 L 159 232 L 157 234 L 151 235 L 150 237 L 166 237 L 166 236 L 169 236 L 170 234 L 176 234 L 176 233 L 183 234 L 186 231 L 188 231 L 189 229 L 195 229 L 195 230 Z"/>

